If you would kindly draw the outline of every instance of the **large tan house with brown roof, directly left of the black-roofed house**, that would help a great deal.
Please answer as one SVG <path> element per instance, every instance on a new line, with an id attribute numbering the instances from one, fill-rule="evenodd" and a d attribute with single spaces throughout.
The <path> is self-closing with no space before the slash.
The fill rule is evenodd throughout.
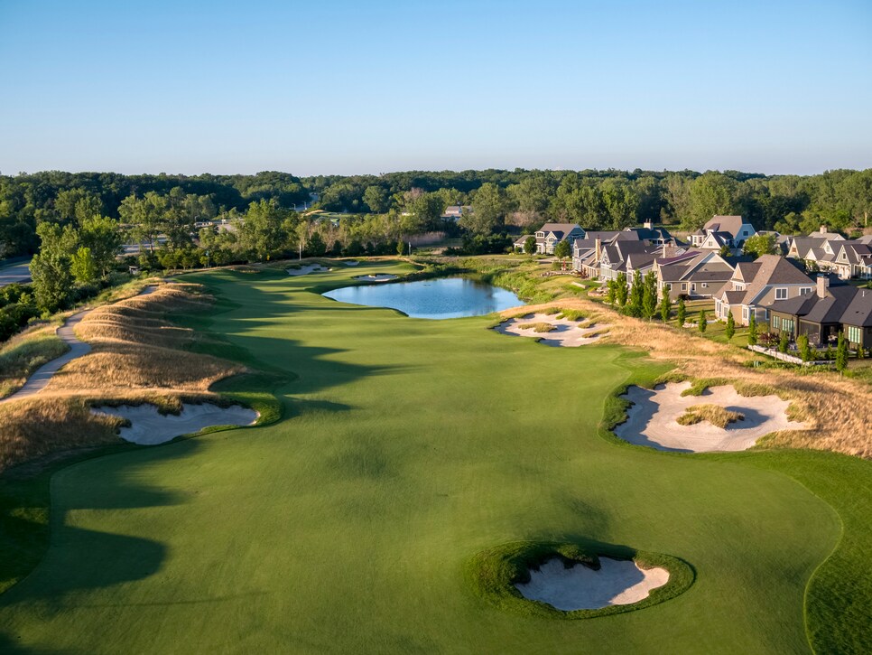
<path id="1" fill-rule="evenodd" d="M 747 325 L 752 315 L 768 322 L 769 306 L 778 300 L 812 294 L 814 282 L 793 262 L 778 255 L 763 255 L 753 262 L 739 262 L 736 270 L 715 295 L 715 315 Z"/>

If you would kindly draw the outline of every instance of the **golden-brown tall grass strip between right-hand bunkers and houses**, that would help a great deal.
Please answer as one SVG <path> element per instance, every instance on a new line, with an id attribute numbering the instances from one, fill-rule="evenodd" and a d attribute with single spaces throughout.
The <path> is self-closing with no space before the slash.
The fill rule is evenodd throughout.
<path id="1" fill-rule="evenodd" d="M 630 318 L 586 298 L 555 300 L 524 307 L 524 312 L 541 312 L 547 307 L 589 312 L 592 320 L 598 314 L 611 325 L 603 342 L 643 350 L 655 360 L 668 360 L 676 367 L 673 377 L 715 380 L 734 385 L 743 395 L 775 392 L 791 400 L 789 416 L 804 421 L 806 429 L 769 435 L 759 443 L 761 446 L 814 448 L 872 458 L 872 388 L 861 380 L 843 378 L 835 372 L 748 368 L 747 363 L 758 359 L 751 351 L 713 342 L 691 331 L 679 331 L 656 320 Z M 503 315 L 519 311 L 515 307 Z"/>

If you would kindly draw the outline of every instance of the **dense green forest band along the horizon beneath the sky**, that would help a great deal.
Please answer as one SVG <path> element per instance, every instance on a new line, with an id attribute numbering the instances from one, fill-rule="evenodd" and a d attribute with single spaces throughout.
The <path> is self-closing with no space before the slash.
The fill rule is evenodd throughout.
<path id="1" fill-rule="evenodd" d="M 330 243 L 389 241 L 438 229 L 438 218 L 450 204 L 474 208 L 463 227 L 478 235 L 498 233 L 505 226 L 530 229 L 544 220 L 578 222 L 588 229 L 622 229 L 649 220 L 695 229 L 719 213 L 742 214 L 758 229 L 789 234 L 811 231 L 821 223 L 842 231 L 867 227 L 872 169 L 808 176 L 522 169 L 309 178 L 277 172 L 22 173 L 0 176 L 0 257 L 37 252 L 42 223 L 78 226 L 95 215 L 105 216 L 133 229 L 134 239 L 153 237 L 148 234 L 153 229 L 169 230 L 174 248 L 184 246 L 187 239 L 181 233 L 190 233 L 190 224 L 198 220 L 238 218 L 259 201 L 288 211 L 312 198 L 318 199 L 315 209 L 361 215 L 357 229 L 355 220 L 349 220 L 340 226 L 341 234 L 321 235 Z M 324 231 L 335 232 L 336 227 Z"/>

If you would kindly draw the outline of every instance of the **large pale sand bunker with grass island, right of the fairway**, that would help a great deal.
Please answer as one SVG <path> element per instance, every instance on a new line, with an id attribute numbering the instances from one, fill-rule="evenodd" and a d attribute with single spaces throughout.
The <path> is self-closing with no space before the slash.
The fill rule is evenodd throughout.
<path id="1" fill-rule="evenodd" d="M 654 391 L 630 387 L 626 398 L 632 407 L 627 420 L 615 434 L 631 444 L 648 445 L 658 450 L 682 453 L 747 450 L 761 436 L 779 430 L 801 430 L 804 424 L 787 418 L 790 402 L 777 396 L 739 396 L 732 387 L 711 387 L 702 396 L 682 396 L 690 382 L 659 385 Z M 718 405 L 744 416 L 727 427 L 701 421 L 682 426 L 678 419 L 688 407 Z"/>

